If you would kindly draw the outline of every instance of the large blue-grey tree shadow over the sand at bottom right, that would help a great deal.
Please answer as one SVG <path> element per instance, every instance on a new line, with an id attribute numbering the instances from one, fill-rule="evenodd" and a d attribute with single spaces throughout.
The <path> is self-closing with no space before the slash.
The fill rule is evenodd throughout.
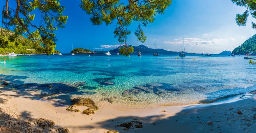
<path id="1" fill-rule="evenodd" d="M 252 98 L 251 102 L 255 102 Z M 216 132 L 255 132 L 256 125 L 256 105 L 243 107 L 243 100 L 233 103 L 225 103 L 220 105 L 186 106 L 180 112 L 173 116 L 167 116 L 168 112 L 155 113 L 157 115 L 139 117 L 139 116 L 121 116 L 114 119 L 108 119 L 97 122 L 93 126 L 76 127 L 80 129 L 107 129 L 116 130 L 118 132 L 141 132 L 141 133 L 216 133 Z M 232 107 L 229 109 L 229 107 Z M 237 110 L 243 113 L 238 114 Z M 171 113 L 171 112 L 170 112 Z M 208 121 L 212 124 L 207 124 Z M 127 131 L 125 127 L 118 125 L 131 122 L 142 122 L 142 128 L 130 127 Z"/>

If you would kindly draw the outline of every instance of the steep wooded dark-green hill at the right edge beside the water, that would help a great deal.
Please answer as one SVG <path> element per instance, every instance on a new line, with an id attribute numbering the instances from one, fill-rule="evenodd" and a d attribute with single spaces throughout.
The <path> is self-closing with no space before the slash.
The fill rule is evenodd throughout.
<path id="1" fill-rule="evenodd" d="M 256 34 L 247 39 L 242 45 L 232 51 L 235 55 L 245 55 L 246 53 L 256 55 Z"/>

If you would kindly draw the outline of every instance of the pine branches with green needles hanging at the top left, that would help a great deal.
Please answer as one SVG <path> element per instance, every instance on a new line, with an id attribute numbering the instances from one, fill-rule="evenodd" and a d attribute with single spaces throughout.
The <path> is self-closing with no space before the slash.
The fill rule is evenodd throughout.
<path id="1" fill-rule="evenodd" d="M 54 53 L 57 40 L 54 31 L 58 27 L 63 28 L 68 18 L 62 15 L 65 8 L 60 5 L 60 0 L 15 0 L 15 2 L 17 6 L 10 7 L 9 0 L 6 0 L 6 5 L 3 7 L 2 23 L 5 28 L 27 36 L 38 45 L 38 51 L 41 49 L 47 54 Z M 32 12 L 37 14 L 31 14 Z M 39 24 L 38 21 L 34 22 L 36 16 L 38 20 L 41 19 Z M 13 42 L 13 37 L 15 36 L 10 36 L 10 42 Z"/>

